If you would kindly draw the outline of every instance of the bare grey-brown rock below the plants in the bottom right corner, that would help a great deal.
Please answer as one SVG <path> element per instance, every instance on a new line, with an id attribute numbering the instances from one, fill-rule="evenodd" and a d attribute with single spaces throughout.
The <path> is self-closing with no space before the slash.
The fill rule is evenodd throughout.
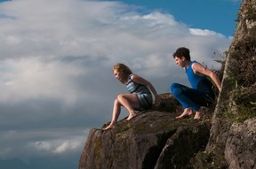
<path id="1" fill-rule="evenodd" d="M 232 124 L 225 157 L 228 168 L 256 168 L 256 118 Z"/>

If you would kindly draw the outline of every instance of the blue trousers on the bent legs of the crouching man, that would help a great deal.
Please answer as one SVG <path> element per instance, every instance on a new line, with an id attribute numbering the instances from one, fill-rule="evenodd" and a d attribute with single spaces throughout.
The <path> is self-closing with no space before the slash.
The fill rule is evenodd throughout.
<path id="1" fill-rule="evenodd" d="M 211 82 L 208 80 L 199 83 L 196 89 L 172 83 L 171 91 L 184 109 L 190 107 L 194 111 L 199 111 L 200 106 L 207 106 L 215 100 Z"/>

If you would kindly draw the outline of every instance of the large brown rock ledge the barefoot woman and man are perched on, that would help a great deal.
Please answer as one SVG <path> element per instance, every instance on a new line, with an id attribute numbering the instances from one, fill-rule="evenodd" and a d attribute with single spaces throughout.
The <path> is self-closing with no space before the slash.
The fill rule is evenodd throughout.
<path id="1" fill-rule="evenodd" d="M 172 95 L 162 95 L 164 105 L 102 131 L 92 129 L 80 158 L 79 169 L 189 168 L 189 160 L 204 150 L 210 120 L 175 119 L 180 104 Z M 206 113 L 206 112 L 205 112 Z"/>

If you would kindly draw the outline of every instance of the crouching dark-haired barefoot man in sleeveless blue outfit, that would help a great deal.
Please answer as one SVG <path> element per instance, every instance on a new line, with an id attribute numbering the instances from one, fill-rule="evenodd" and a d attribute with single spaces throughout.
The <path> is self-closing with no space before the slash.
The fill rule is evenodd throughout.
<path id="1" fill-rule="evenodd" d="M 192 88 L 172 83 L 171 91 L 173 96 L 180 102 L 184 111 L 176 119 L 181 119 L 185 116 L 191 116 L 195 113 L 194 119 L 200 119 L 200 106 L 212 104 L 215 100 L 212 82 L 207 79 L 210 77 L 216 87 L 221 89 L 221 84 L 218 76 L 210 69 L 190 60 L 189 50 L 181 47 L 173 53 L 173 58 L 177 65 L 184 67 Z"/>

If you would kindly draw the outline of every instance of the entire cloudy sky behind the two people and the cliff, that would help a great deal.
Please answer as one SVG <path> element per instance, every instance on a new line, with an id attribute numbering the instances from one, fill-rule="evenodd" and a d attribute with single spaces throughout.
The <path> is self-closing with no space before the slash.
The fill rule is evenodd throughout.
<path id="1" fill-rule="evenodd" d="M 0 0 L 0 168 L 77 168 L 90 128 L 108 122 L 127 92 L 112 65 L 129 65 L 158 93 L 188 84 L 172 53 L 185 46 L 220 67 L 240 4 Z"/>

